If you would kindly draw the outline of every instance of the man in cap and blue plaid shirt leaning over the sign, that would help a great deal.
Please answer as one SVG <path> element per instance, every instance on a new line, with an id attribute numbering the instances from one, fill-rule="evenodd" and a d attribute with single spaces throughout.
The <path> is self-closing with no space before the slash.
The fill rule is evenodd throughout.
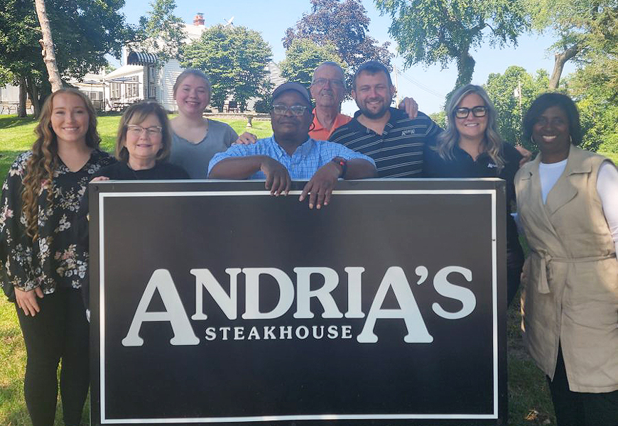
<path id="1" fill-rule="evenodd" d="M 376 175 L 372 158 L 339 143 L 309 137 L 313 122 L 307 90 L 298 83 L 283 83 L 273 92 L 273 136 L 251 145 L 233 145 L 217 153 L 208 165 L 213 179 L 265 179 L 272 195 L 287 194 L 292 179 L 309 180 L 300 201 L 309 195 L 309 208 L 330 201 L 338 178 L 362 179 Z"/>

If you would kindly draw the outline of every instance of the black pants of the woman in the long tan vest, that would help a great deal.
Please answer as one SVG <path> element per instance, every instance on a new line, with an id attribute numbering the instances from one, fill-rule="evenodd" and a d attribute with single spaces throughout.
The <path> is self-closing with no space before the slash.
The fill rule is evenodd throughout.
<path id="1" fill-rule="evenodd" d="M 618 425 L 618 391 L 607 393 L 570 391 L 560 346 L 553 381 L 549 377 L 547 381 L 558 426 Z"/>

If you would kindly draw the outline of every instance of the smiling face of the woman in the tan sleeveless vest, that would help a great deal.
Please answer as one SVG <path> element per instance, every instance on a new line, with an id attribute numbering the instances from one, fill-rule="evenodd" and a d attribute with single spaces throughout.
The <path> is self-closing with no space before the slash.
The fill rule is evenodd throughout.
<path id="1" fill-rule="evenodd" d="M 543 163 L 565 160 L 571 145 L 566 112 L 560 107 L 549 107 L 543 111 L 534 121 L 532 138 L 541 150 Z"/>

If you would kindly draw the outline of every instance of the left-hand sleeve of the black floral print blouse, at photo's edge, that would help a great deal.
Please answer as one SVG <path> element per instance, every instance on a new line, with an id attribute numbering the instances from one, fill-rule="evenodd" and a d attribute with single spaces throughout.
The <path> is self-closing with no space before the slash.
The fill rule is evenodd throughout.
<path id="1" fill-rule="evenodd" d="M 26 235 L 21 213 L 21 192 L 23 176 L 26 174 L 28 156 L 20 155 L 11 165 L 9 175 L 2 186 L 0 199 L 0 259 L 1 268 L 5 268 L 8 283 L 21 290 L 32 290 L 40 285 L 37 274 L 33 272 L 32 239 Z"/>

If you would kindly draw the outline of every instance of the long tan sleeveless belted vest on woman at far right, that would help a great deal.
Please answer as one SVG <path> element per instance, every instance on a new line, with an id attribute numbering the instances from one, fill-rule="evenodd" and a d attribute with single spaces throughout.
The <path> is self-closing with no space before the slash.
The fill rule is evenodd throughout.
<path id="1" fill-rule="evenodd" d="M 524 342 L 550 378 L 560 342 L 571 391 L 615 391 L 618 260 L 597 194 L 597 174 L 607 158 L 571 146 L 543 204 L 540 157 L 515 177 L 517 210 L 531 249 L 521 280 Z"/>

